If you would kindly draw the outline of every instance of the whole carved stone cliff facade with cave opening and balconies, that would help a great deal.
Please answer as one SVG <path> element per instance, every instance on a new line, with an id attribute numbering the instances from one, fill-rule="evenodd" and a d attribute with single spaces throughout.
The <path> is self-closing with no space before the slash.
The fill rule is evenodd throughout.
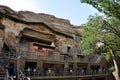
<path id="1" fill-rule="evenodd" d="M 0 16 L 0 54 L 7 56 L 6 62 L 12 63 L 18 71 L 30 67 L 32 70 L 84 69 L 90 72 L 94 62 L 81 54 L 80 27 L 52 15 L 15 12 L 5 6 L 0 6 Z M 93 65 L 97 71 L 106 67 L 105 62 L 99 63 L 101 60 Z"/>

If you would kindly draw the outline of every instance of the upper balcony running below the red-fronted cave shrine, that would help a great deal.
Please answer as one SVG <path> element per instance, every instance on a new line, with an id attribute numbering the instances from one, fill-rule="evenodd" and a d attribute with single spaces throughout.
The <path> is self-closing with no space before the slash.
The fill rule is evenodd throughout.
<path id="1" fill-rule="evenodd" d="M 50 52 L 51 53 L 51 52 Z M 32 59 L 41 59 L 41 60 L 46 60 L 46 61 L 56 61 L 56 62 L 76 62 L 76 63 L 85 63 L 87 62 L 85 58 L 80 58 L 80 57 L 74 57 L 72 55 L 57 55 L 58 52 L 53 52 L 51 54 L 46 54 L 46 52 L 41 51 L 39 53 L 35 52 L 28 52 L 28 51 L 20 51 L 18 56 L 23 56 L 26 58 L 32 58 Z"/>

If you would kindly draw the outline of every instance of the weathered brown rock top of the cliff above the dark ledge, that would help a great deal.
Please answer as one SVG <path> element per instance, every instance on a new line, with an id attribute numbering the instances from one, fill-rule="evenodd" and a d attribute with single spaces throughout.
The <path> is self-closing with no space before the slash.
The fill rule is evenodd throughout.
<path id="1" fill-rule="evenodd" d="M 68 20 L 56 18 L 53 15 L 36 14 L 29 11 L 15 12 L 5 6 L 0 6 L 0 13 L 24 23 L 44 23 L 53 31 L 67 36 L 73 36 L 73 34 L 81 36 L 81 30 L 75 28 L 78 26 L 74 26 Z"/>

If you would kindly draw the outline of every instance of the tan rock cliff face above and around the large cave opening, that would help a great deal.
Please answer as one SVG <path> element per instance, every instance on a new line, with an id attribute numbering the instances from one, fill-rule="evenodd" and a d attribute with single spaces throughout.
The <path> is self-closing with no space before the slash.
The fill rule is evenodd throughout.
<path id="1" fill-rule="evenodd" d="M 0 24 L 5 27 L 4 41 L 13 47 L 14 51 L 17 51 L 23 34 L 42 41 L 51 41 L 56 50 L 62 49 L 62 53 L 67 51 L 68 46 L 80 51 L 78 42 L 81 29 L 70 24 L 68 20 L 43 13 L 16 12 L 9 7 L 0 6 Z"/>

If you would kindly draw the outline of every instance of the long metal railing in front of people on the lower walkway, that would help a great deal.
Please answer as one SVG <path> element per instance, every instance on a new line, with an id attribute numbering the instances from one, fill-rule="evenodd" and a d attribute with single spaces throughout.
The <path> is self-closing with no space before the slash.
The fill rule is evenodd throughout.
<path id="1" fill-rule="evenodd" d="M 81 72 L 81 71 L 36 71 L 36 72 L 27 72 L 25 71 L 24 74 L 27 74 L 29 77 L 58 77 L 58 76 L 83 76 L 83 75 L 103 75 L 109 74 L 109 72 Z"/>

